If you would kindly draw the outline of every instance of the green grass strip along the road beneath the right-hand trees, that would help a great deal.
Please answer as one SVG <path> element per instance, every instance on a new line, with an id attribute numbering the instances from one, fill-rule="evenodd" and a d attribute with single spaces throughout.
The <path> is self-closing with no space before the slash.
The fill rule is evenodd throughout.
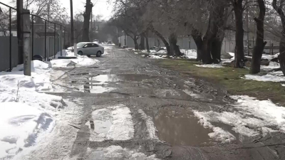
<path id="1" fill-rule="evenodd" d="M 249 70 L 241 68 L 200 68 L 195 60 L 161 60 L 160 65 L 170 70 L 202 78 L 217 84 L 231 95 L 249 95 L 259 100 L 272 100 L 285 107 L 285 87 L 280 82 L 259 82 L 242 79 Z"/>

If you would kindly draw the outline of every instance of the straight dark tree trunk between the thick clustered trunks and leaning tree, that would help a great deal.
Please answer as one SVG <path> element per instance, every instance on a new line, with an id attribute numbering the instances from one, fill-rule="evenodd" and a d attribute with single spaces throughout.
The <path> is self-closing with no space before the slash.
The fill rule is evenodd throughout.
<path id="1" fill-rule="evenodd" d="M 243 0 L 234 1 L 234 16 L 236 18 L 236 47 L 234 48 L 234 68 L 244 67 L 244 28 L 243 28 Z"/>

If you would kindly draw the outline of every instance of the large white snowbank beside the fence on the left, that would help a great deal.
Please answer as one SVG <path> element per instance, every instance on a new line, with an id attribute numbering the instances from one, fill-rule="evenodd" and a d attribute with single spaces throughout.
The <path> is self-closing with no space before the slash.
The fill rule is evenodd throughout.
<path id="1" fill-rule="evenodd" d="M 23 65 L 11 73 L 0 73 L 0 159 L 13 157 L 32 146 L 55 124 L 53 111 L 63 107 L 62 97 L 39 91 L 52 91 L 49 65 L 31 62 L 31 77 L 23 75 Z"/>

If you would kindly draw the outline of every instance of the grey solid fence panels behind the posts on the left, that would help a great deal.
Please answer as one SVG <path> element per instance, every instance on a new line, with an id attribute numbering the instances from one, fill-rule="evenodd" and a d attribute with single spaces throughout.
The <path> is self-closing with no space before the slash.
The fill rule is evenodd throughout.
<path id="1" fill-rule="evenodd" d="M 53 37 L 46 38 L 46 58 L 54 55 L 54 41 Z M 31 43 L 30 43 L 31 44 Z M 9 70 L 9 36 L 0 36 L 0 71 Z M 32 45 L 31 45 L 32 46 Z M 33 38 L 33 55 L 41 55 L 45 58 L 45 38 Z M 60 51 L 60 40 L 56 38 L 56 53 Z M 32 49 L 31 49 L 32 54 Z M 17 37 L 12 37 L 12 68 L 18 65 L 18 39 Z"/>

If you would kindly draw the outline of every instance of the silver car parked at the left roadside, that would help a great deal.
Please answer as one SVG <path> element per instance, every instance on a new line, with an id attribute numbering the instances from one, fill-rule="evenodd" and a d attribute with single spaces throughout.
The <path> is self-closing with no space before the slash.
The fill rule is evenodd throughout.
<path id="1" fill-rule="evenodd" d="M 104 47 L 92 42 L 81 42 L 77 44 L 78 55 L 96 55 L 100 57 L 104 54 Z"/>

